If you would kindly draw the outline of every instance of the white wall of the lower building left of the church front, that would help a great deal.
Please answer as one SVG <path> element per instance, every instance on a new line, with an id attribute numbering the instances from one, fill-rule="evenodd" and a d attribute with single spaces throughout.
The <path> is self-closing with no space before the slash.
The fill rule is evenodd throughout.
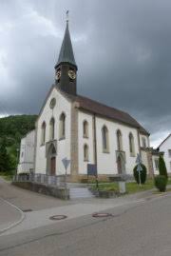
<path id="1" fill-rule="evenodd" d="M 28 132 L 21 140 L 17 173 L 29 171 L 34 165 L 35 130 Z"/>

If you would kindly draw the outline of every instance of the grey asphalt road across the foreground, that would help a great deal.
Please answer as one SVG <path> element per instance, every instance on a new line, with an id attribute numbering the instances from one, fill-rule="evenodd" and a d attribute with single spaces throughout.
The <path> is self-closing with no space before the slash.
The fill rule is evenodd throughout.
<path id="1" fill-rule="evenodd" d="M 170 256 L 171 194 L 0 237 L 0 256 Z"/>

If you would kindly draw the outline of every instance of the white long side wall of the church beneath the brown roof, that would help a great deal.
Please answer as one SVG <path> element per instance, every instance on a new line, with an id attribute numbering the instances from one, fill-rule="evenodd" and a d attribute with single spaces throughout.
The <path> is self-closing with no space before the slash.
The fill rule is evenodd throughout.
<path id="1" fill-rule="evenodd" d="M 89 124 L 89 138 L 83 138 L 83 122 L 86 120 Z M 104 125 L 108 128 L 109 135 L 109 153 L 103 152 L 102 145 L 102 128 Z M 99 174 L 118 174 L 116 163 L 116 150 L 117 150 L 117 130 L 120 129 L 123 134 L 123 151 L 125 151 L 125 171 L 127 174 L 133 173 L 135 166 L 136 156 L 139 152 L 138 132 L 136 128 L 129 128 L 119 123 L 114 123 L 105 120 L 101 117 L 96 117 L 96 136 L 97 136 L 97 164 Z M 135 156 L 130 156 L 129 152 L 129 132 L 134 136 Z M 93 158 L 93 130 L 92 130 L 92 115 L 79 111 L 79 173 L 86 174 L 86 165 L 84 162 L 84 144 L 89 147 L 89 162 L 94 163 Z"/>

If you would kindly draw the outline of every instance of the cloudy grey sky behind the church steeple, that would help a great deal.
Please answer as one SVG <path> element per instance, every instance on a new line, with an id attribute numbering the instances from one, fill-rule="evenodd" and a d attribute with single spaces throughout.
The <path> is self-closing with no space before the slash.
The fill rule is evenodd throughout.
<path id="1" fill-rule="evenodd" d="M 0 115 L 38 113 L 66 28 L 80 94 L 171 131 L 170 0 L 0 0 Z"/>

